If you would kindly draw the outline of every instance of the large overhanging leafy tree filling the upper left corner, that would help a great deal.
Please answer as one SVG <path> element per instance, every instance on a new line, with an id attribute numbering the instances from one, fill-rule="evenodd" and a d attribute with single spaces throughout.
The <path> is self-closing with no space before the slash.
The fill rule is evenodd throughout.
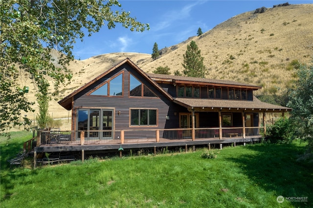
<path id="1" fill-rule="evenodd" d="M 73 44 L 76 39 L 83 41 L 84 31 L 90 36 L 103 25 L 112 29 L 116 23 L 131 31 L 149 29 L 149 24 L 136 21 L 129 12 L 112 10 L 115 6 L 121 7 L 117 0 L 0 1 L 1 133 L 7 133 L 11 125 L 21 125 L 21 111 L 33 111 L 21 76 L 32 79 L 39 96 L 47 95 L 50 83 L 57 93 L 59 85 L 72 77 L 67 65 L 74 59 Z M 59 57 L 52 59 L 52 49 Z"/>

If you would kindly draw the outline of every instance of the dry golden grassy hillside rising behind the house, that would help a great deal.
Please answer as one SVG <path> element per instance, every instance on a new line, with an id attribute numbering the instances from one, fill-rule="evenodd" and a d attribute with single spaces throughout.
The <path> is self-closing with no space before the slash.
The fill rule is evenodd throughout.
<path id="1" fill-rule="evenodd" d="M 209 69 L 207 78 L 257 84 L 263 86 L 258 93 L 279 93 L 276 86 L 285 88 L 295 79 L 291 62 L 309 63 L 312 60 L 313 4 L 268 8 L 260 14 L 253 12 L 237 15 L 200 37 L 191 37 L 162 49 L 162 56 L 156 61 L 151 59 L 151 54 L 140 53 L 112 53 L 75 60 L 69 65 L 73 79 L 61 88 L 57 100 L 127 57 L 145 72 L 151 73 L 156 67 L 166 65 L 171 68 L 172 74 L 175 70 L 182 71 L 183 54 L 192 40 L 201 49 Z M 28 94 L 30 100 L 35 99 L 34 94 L 34 89 L 31 89 Z M 51 101 L 49 105 L 50 115 L 53 112 L 54 118 L 67 117 L 67 110 L 56 101 Z M 34 113 L 28 116 L 33 118 Z"/>

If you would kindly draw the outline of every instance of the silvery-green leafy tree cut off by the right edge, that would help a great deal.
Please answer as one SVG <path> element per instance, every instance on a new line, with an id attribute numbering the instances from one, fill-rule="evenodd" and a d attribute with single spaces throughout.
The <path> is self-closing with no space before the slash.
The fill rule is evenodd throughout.
<path id="1" fill-rule="evenodd" d="M 291 120 L 296 126 L 295 136 L 308 141 L 309 149 L 313 150 L 313 62 L 311 65 L 300 65 L 297 69 L 299 79 L 295 87 L 289 90 L 288 106 Z"/>

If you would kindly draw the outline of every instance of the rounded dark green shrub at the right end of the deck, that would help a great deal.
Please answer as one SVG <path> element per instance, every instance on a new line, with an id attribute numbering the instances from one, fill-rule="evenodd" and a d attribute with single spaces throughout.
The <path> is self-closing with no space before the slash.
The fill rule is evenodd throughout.
<path id="1" fill-rule="evenodd" d="M 293 133 L 294 129 L 291 120 L 281 118 L 275 124 L 268 126 L 266 135 L 271 143 L 288 144 L 292 141 Z"/>

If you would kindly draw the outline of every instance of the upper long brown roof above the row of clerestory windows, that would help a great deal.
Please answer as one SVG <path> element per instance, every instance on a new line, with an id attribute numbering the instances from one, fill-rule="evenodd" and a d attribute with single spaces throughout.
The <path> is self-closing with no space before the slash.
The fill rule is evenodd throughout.
<path id="1" fill-rule="evenodd" d="M 237 87 L 237 88 L 247 88 L 252 90 L 261 89 L 261 86 L 238 83 L 228 80 L 213 80 L 213 79 L 204 79 L 196 77 L 184 77 L 184 76 L 175 76 L 175 75 L 165 75 L 165 74 L 148 74 L 151 79 L 156 82 L 167 82 L 172 84 L 199 84 L 199 85 L 211 85 L 211 86 L 227 86 L 227 87 Z"/>

